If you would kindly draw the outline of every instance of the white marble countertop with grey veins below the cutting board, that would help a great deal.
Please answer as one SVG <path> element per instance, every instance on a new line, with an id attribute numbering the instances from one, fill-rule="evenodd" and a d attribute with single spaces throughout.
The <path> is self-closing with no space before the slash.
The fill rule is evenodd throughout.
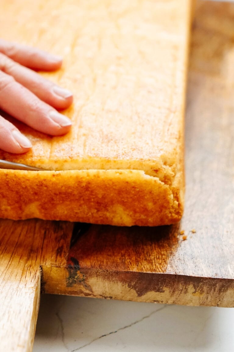
<path id="1" fill-rule="evenodd" d="M 33 352 L 233 352 L 234 309 L 44 295 Z"/>

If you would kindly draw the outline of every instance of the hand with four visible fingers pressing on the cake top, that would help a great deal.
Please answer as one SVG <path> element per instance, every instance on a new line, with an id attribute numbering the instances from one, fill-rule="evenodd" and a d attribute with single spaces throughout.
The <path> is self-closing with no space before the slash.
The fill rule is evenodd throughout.
<path id="1" fill-rule="evenodd" d="M 55 109 L 66 109 L 73 96 L 34 70 L 53 71 L 62 58 L 0 39 L 0 109 L 35 130 L 60 136 L 71 121 Z M 25 153 L 31 142 L 11 122 L 0 116 L 0 149 Z"/>

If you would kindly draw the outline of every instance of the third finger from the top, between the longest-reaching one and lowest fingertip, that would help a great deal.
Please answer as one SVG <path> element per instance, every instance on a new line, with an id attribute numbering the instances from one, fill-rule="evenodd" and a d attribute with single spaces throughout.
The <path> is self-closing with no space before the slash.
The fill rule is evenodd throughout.
<path id="1" fill-rule="evenodd" d="M 12 76 L 0 71 L 0 109 L 40 132 L 61 136 L 71 121 L 41 101 Z"/>

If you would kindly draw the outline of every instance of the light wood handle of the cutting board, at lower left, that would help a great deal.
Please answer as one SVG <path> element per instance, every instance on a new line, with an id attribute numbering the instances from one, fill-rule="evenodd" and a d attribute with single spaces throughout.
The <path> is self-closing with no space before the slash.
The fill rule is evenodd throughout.
<path id="1" fill-rule="evenodd" d="M 40 300 L 40 264 L 66 263 L 72 224 L 0 221 L 0 351 L 32 351 Z"/>

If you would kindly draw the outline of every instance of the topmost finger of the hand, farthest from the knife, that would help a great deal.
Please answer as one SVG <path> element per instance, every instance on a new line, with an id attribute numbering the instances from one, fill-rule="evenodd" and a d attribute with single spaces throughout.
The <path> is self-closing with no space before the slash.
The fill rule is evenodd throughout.
<path id="1" fill-rule="evenodd" d="M 62 58 L 30 46 L 0 39 L 0 52 L 19 64 L 34 70 L 53 71 L 62 65 Z"/>

